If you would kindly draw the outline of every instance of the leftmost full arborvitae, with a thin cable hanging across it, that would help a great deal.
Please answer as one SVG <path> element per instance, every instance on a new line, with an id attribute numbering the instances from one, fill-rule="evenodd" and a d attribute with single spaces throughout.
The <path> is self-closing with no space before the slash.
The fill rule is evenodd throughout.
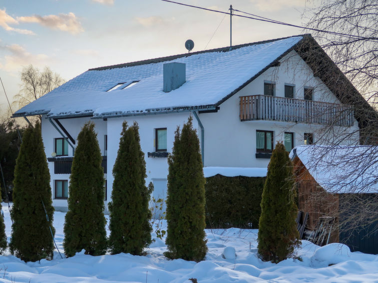
<path id="1" fill-rule="evenodd" d="M 53 258 L 53 201 L 41 125 L 23 135 L 15 167 L 10 250 L 24 261 Z M 44 205 L 49 220 L 47 220 Z"/>

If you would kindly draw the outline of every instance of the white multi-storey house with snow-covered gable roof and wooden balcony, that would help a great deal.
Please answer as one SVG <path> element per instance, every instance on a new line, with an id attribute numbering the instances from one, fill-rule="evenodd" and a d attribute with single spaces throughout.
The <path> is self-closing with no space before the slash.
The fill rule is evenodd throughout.
<path id="1" fill-rule="evenodd" d="M 316 63 L 308 64 L 303 46 L 318 47 L 305 34 L 236 45 L 231 50 L 225 47 L 93 68 L 15 116 L 42 115 L 57 209 L 67 209 L 74 148 L 88 120 L 96 124 L 104 155 L 106 204 L 124 120 L 138 122 L 146 182 L 154 183 L 155 196 L 164 197 L 174 131 L 190 115 L 204 166 L 211 167 L 205 170 L 213 174 L 214 167 L 221 171 L 232 167 L 235 174 L 235 167 L 243 168 L 247 175 L 256 172 L 253 168 L 266 168 L 278 140 L 284 141 L 288 151 L 296 145 L 327 143 L 329 137 L 320 130 L 329 124 L 342 143 L 358 143 L 359 121 L 352 108 L 341 103 L 342 95 L 314 69 Z"/>

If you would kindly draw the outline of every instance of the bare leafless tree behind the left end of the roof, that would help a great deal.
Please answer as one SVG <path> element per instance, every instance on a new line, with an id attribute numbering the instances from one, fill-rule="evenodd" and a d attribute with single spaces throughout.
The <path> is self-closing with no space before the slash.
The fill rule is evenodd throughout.
<path id="1" fill-rule="evenodd" d="M 65 80 L 54 73 L 48 66 L 41 72 L 32 64 L 21 71 L 21 90 L 15 95 L 13 104 L 21 108 L 30 102 L 40 98 L 54 88 L 60 86 Z"/>

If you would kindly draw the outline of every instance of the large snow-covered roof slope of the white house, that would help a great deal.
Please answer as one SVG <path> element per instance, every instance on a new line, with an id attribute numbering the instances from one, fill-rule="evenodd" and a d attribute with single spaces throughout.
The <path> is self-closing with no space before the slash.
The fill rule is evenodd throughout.
<path id="1" fill-rule="evenodd" d="M 15 116 L 95 117 L 215 108 L 290 51 L 305 35 L 89 69 Z M 186 64 L 186 82 L 163 92 L 163 64 Z M 135 85 L 107 91 L 119 83 Z"/>

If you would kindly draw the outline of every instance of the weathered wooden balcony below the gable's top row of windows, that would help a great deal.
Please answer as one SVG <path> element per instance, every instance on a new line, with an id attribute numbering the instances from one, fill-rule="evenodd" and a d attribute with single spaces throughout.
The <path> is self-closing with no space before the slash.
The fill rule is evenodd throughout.
<path id="1" fill-rule="evenodd" d="M 268 95 L 248 95 L 240 96 L 240 120 L 352 126 L 354 116 L 351 105 Z"/>

